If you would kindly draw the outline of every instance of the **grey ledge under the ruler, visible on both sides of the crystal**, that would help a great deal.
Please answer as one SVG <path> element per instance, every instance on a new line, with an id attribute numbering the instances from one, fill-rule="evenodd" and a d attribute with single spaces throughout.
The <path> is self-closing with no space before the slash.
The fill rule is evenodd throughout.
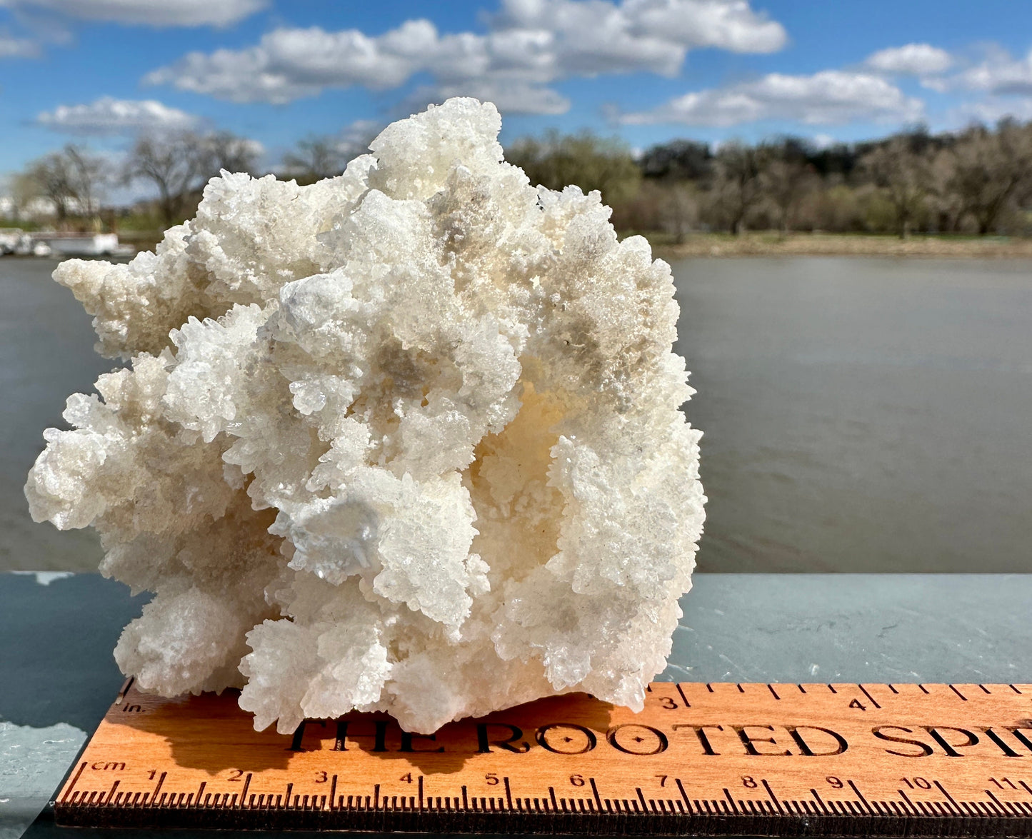
<path id="1" fill-rule="evenodd" d="M 25 727 L 23 734 L 58 723 L 92 733 L 123 681 L 111 649 L 146 602 L 146 595 L 130 598 L 125 586 L 96 575 L 43 585 L 32 575 L 0 574 L 0 720 Z M 697 575 L 682 601 L 685 615 L 671 666 L 660 678 L 1032 681 L 1030 603 L 1032 574 Z M 25 819 L 52 795 L 74 756 L 61 749 L 46 753 L 57 765 L 37 771 L 37 781 L 23 773 L 5 790 L 0 774 L 0 800 L 8 799 L 0 805 L 3 839 L 21 832 L 24 824 L 13 814 Z M 33 783 L 39 788 L 29 788 Z M 25 833 L 28 839 L 127 835 L 61 829 L 49 809 Z"/>

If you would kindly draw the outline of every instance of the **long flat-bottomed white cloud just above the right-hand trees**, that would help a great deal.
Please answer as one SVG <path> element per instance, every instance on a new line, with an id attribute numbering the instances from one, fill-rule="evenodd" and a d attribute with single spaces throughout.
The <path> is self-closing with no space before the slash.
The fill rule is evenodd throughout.
<path id="1" fill-rule="evenodd" d="M 682 123 L 733 126 L 761 120 L 840 125 L 857 120 L 915 120 L 923 103 L 884 78 L 864 72 L 821 70 L 812 75 L 771 73 L 754 82 L 687 93 L 652 110 L 622 114 L 624 125 Z"/>

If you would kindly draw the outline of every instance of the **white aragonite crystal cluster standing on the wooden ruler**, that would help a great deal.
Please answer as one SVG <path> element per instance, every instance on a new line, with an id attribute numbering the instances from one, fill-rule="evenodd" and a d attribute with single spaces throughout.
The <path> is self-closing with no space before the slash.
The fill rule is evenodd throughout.
<path id="1" fill-rule="evenodd" d="M 642 707 L 705 502 L 670 267 L 499 127 L 451 99 L 340 178 L 224 172 L 156 253 L 55 271 L 130 366 L 26 495 L 156 593 L 115 651 L 143 689 L 240 687 L 284 733 Z"/>

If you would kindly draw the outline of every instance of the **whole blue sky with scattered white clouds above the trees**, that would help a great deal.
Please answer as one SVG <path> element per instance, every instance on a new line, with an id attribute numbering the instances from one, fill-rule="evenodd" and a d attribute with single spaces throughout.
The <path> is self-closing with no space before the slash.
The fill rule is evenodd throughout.
<path id="1" fill-rule="evenodd" d="M 0 173 L 183 127 L 273 166 L 454 94 L 495 101 L 504 141 L 949 129 L 1032 118 L 1030 47 L 1015 0 L 0 0 Z"/>

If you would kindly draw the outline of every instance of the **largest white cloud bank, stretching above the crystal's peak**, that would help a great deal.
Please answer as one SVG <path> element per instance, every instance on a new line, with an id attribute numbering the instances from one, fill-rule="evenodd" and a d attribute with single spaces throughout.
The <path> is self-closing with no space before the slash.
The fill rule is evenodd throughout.
<path id="1" fill-rule="evenodd" d="M 424 101 L 479 95 L 504 110 L 559 114 L 569 101 L 549 86 L 562 78 L 674 75 L 691 49 L 769 53 L 785 42 L 747 0 L 503 0 L 486 22 L 485 33 L 441 33 L 426 20 L 381 35 L 280 28 L 243 50 L 190 53 L 144 82 L 282 103 L 326 88 L 397 88 L 425 72 L 431 87 L 414 94 Z"/>

